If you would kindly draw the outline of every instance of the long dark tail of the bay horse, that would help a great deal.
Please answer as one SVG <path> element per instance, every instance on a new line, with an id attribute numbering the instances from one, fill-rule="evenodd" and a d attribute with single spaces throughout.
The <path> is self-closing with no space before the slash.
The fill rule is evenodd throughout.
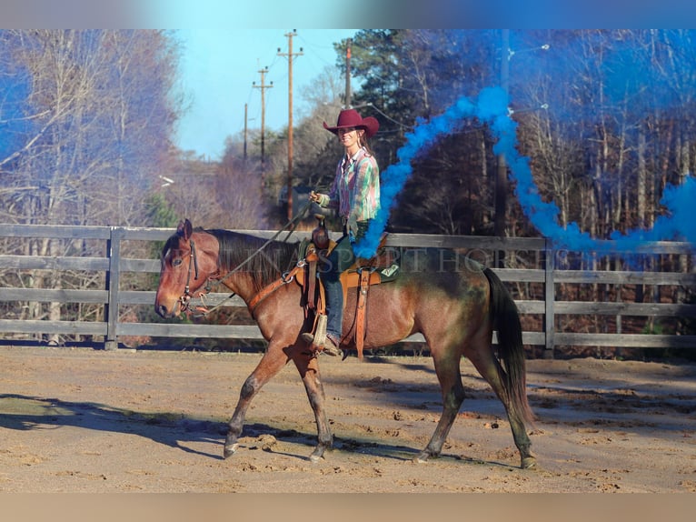
<path id="1" fill-rule="evenodd" d="M 527 400 L 527 376 L 522 324 L 517 306 L 508 289 L 490 268 L 483 274 L 491 286 L 491 315 L 493 327 L 498 331 L 498 356 L 504 370 L 503 385 L 517 413 L 530 424 L 534 421 L 532 408 Z"/>

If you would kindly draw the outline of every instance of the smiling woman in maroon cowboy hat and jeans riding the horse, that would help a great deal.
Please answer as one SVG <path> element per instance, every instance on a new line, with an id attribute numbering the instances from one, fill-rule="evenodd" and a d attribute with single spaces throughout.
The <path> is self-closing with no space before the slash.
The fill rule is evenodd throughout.
<path id="1" fill-rule="evenodd" d="M 338 346 L 343 331 L 343 286 L 339 276 L 355 262 L 353 245 L 365 235 L 370 219 L 380 207 L 380 169 L 368 144 L 379 126 L 376 118 L 363 118 L 355 109 L 342 110 L 335 126 L 323 122 L 323 128 L 338 136 L 345 148 L 329 193 L 312 191 L 309 196 L 319 206 L 337 209 L 343 221 L 343 237 L 320 274 L 326 294 L 326 342 L 323 346 L 313 345 L 315 350 L 323 349 L 331 356 L 341 354 Z M 312 334 L 303 337 L 313 342 Z"/>

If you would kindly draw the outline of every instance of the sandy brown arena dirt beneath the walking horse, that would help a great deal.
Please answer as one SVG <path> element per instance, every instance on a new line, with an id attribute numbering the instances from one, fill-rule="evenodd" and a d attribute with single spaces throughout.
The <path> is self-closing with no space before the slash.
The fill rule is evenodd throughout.
<path id="1" fill-rule="evenodd" d="M 427 357 L 322 357 L 335 449 L 287 366 L 226 422 L 260 354 L 0 347 L 0 491 L 696 492 L 696 365 L 528 361 L 537 470 L 467 362 L 442 457 L 416 464 L 441 412 Z"/>

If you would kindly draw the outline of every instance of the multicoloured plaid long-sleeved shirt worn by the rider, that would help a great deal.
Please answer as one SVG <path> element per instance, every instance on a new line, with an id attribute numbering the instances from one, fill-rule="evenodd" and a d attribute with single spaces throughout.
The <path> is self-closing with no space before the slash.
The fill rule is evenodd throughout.
<path id="1" fill-rule="evenodd" d="M 380 208 L 380 169 L 374 156 L 361 147 L 352 157 L 343 156 L 322 206 L 338 208 L 338 215 L 367 221 Z"/>

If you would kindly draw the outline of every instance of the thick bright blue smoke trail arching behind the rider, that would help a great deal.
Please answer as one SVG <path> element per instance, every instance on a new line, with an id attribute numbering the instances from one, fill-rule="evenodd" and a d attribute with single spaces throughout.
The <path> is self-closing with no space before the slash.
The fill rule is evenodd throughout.
<path id="1" fill-rule="evenodd" d="M 553 202 L 545 202 L 532 179 L 529 158 L 520 156 L 517 151 L 517 124 L 510 117 L 508 95 L 501 87 L 483 89 L 475 103 L 468 98 L 460 98 L 442 115 L 430 122 L 419 121 L 413 133 L 406 135 L 405 145 L 397 152 L 398 162 L 383 171 L 381 186 L 381 209 L 373 219 L 367 234 L 355 246 L 357 256 L 374 256 L 387 220 L 396 202 L 396 196 L 412 174 L 412 160 L 433 146 L 439 136 L 446 135 L 462 125 L 466 118 L 477 117 L 490 125 L 497 143 L 493 146 L 495 154 L 503 154 L 510 168 L 512 179 L 516 182 L 515 195 L 522 210 L 532 225 L 552 240 L 556 248 L 575 251 L 610 250 L 612 252 L 634 253 L 644 241 L 685 240 L 696 246 L 696 219 L 691 216 L 691 206 L 696 203 L 696 179 L 687 176 L 681 186 L 668 186 L 661 200 L 666 214 L 660 216 L 651 230 L 633 230 L 622 235 L 611 235 L 612 246 L 592 239 L 582 232 L 576 223 L 562 226 L 560 210 Z"/>

